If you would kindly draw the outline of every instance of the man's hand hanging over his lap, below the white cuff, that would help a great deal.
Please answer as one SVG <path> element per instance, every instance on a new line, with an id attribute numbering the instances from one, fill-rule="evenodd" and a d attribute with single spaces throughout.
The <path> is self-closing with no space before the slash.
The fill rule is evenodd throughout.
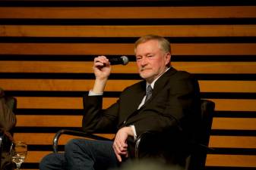
<path id="1" fill-rule="evenodd" d="M 112 147 L 119 162 L 122 162 L 122 156 L 128 157 L 128 136 L 134 136 L 131 127 L 120 128 L 119 131 L 115 134 L 115 141 Z"/>

